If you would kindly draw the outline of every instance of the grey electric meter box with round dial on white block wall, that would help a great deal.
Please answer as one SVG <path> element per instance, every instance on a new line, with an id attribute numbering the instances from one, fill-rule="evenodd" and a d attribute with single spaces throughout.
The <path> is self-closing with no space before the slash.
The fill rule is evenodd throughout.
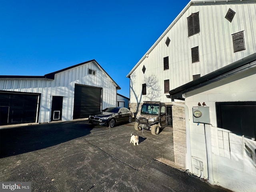
<path id="1" fill-rule="evenodd" d="M 193 122 L 210 124 L 209 107 L 193 107 Z"/>

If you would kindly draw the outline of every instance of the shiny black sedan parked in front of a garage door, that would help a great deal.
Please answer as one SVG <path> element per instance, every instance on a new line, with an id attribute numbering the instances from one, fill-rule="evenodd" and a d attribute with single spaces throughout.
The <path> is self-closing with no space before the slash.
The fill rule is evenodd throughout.
<path id="1" fill-rule="evenodd" d="M 108 107 L 101 114 L 90 115 L 88 122 L 93 125 L 114 127 L 121 122 L 132 122 L 132 112 L 125 107 Z"/>

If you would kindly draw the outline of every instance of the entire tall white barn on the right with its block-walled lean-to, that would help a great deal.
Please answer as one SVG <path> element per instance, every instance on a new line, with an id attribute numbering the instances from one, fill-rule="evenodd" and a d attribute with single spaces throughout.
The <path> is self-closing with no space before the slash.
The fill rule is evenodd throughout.
<path id="1" fill-rule="evenodd" d="M 171 106 L 174 164 L 237 192 L 256 188 L 255 34 L 255 0 L 191 0 L 127 75 L 134 114 Z"/>

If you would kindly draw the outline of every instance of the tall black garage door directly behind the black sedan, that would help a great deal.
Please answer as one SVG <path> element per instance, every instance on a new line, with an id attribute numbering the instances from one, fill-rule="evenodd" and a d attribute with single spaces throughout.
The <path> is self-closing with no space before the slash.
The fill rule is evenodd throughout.
<path id="1" fill-rule="evenodd" d="M 74 119 L 87 118 L 101 111 L 102 88 L 75 84 Z"/>

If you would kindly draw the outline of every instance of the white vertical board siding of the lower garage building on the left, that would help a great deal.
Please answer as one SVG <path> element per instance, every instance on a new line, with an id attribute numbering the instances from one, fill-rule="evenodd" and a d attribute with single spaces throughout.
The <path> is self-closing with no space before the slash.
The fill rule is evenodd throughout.
<path id="1" fill-rule="evenodd" d="M 88 74 L 96 70 L 96 76 Z M 62 121 L 73 120 L 75 84 L 102 88 L 102 109 L 116 106 L 116 85 L 94 62 L 55 74 L 54 80 L 37 78 L 2 78 L 0 90 L 40 93 L 39 123 L 50 122 L 52 96 L 63 96 Z"/>

